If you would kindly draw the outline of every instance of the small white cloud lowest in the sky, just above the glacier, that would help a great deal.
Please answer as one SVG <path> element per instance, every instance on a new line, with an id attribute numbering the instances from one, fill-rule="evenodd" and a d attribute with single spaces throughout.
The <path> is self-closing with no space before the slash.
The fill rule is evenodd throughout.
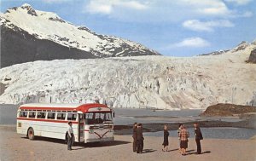
<path id="1" fill-rule="evenodd" d="M 171 47 L 190 47 L 190 48 L 203 48 L 211 44 L 201 37 L 188 37 L 183 39 L 180 43 L 172 44 Z"/>

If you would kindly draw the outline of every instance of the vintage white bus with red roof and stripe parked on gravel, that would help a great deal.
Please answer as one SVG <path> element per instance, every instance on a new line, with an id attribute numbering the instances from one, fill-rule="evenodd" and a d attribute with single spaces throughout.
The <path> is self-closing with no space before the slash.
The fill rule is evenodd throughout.
<path id="1" fill-rule="evenodd" d="M 43 136 L 67 141 L 68 122 L 75 142 L 113 141 L 113 111 L 106 105 L 24 104 L 17 111 L 17 133 L 30 140 Z"/>

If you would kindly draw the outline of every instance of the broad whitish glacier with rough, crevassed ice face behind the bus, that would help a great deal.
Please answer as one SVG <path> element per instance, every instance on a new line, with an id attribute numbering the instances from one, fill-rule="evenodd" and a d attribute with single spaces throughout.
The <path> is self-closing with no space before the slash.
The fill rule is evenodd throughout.
<path id="1" fill-rule="evenodd" d="M 0 69 L 0 102 L 91 102 L 114 107 L 255 105 L 256 43 L 223 55 L 35 61 Z"/>

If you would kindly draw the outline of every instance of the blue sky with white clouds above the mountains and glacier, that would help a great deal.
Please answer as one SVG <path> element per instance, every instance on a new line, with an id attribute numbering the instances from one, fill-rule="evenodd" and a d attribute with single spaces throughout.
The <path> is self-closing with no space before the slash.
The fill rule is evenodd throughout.
<path id="1" fill-rule="evenodd" d="M 256 39 L 255 0 L 0 0 L 23 3 L 90 30 L 123 37 L 162 55 L 192 56 Z"/>

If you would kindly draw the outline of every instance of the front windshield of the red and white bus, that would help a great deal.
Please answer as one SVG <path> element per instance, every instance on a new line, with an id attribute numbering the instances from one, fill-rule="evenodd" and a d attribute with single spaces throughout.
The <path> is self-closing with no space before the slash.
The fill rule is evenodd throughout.
<path id="1" fill-rule="evenodd" d="M 112 123 L 111 112 L 88 112 L 84 113 L 85 124 L 107 124 Z"/>

